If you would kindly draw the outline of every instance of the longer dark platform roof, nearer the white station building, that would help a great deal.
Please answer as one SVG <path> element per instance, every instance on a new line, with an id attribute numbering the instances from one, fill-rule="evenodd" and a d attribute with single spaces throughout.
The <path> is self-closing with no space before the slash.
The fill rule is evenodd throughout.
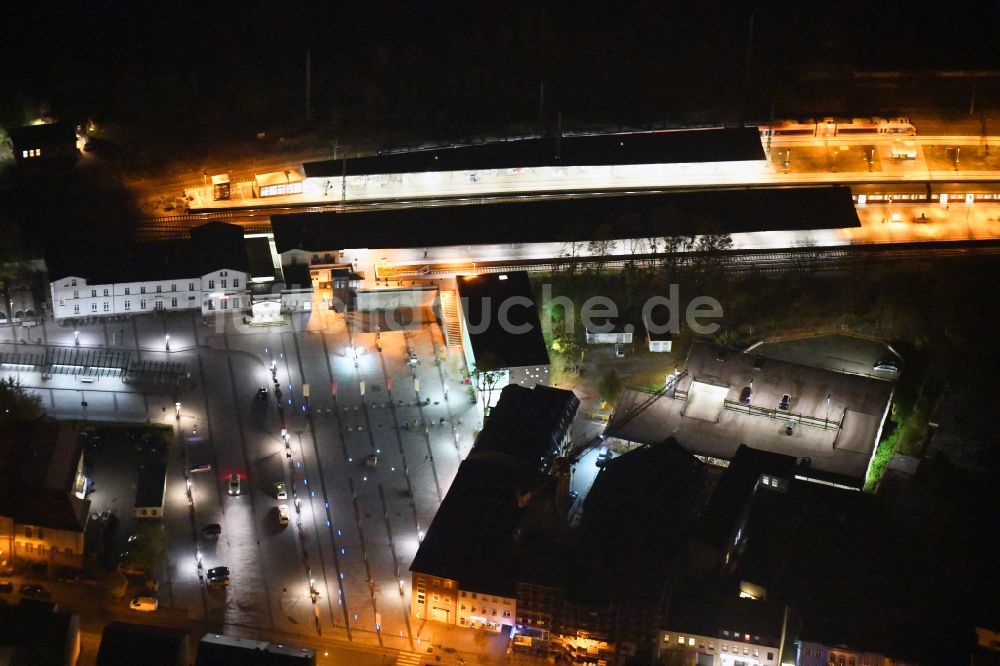
<path id="1" fill-rule="evenodd" d="M 565 243 L 860 226 L 844 186 L 719 189 L 271 217 L 278 252 Z"/>

